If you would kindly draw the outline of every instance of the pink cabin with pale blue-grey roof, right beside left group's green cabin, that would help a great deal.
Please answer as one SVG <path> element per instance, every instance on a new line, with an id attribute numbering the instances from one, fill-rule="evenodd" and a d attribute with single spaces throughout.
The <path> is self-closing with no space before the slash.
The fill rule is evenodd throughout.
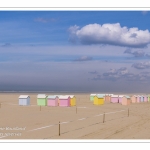
<path id="1" fill-rule="evenodd" d="M 59 98 L 56 95 L 49 95 L 47 97 L 47 106 L 58 106 Z"/>

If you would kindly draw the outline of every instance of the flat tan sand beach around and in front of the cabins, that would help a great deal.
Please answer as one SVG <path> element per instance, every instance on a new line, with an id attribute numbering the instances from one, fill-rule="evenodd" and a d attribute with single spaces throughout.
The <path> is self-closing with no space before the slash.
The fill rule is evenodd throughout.
<path id="1" fill-rule="evenodd" d="M 42 106 L 40 110 L 37 94 L 42 93 L 0 93 L 0 140 L 150 139 L 149 102 L 96 106 L 90 93 L 44 93 L 75 95 L 77 107 Z M 29 106 L 18 105 L 20 95 L 30 96 Z"/>

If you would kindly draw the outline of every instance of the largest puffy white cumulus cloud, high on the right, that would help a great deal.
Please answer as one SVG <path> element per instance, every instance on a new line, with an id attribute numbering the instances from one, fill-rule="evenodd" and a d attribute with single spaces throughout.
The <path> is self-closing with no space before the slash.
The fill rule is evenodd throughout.
<path id="1" fill-rule="evenodd" d="M 136 27 L 127 28 L 116 24 L 89 24 L 82 28 L 71 26 L 70 37 L 73 37 L 81 44 L 105 44 L 126 47 L 146 47 L 150 43 L 149 30 L 139 30 Z"/>

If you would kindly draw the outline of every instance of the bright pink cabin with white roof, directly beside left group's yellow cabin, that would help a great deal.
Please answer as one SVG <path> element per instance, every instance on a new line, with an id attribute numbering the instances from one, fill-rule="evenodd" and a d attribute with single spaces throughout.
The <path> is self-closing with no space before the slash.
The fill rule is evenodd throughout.
<path id="1" fill-rule="evenodd" d="M 70 107 L 70 96 L 59 96 L 59 106 Z"/>

